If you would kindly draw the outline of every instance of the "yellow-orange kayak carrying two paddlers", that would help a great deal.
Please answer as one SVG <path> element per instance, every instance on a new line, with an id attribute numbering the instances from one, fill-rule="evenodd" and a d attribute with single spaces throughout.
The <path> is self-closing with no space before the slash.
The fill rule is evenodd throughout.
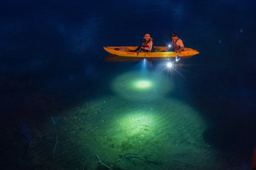
<path id="1" fill-rule="evenodd" d="M 130 52 L 137 48 L 137 46 L 119 46 L 119 47 L 103 47 L 106 51 L 111 54 L 124 57 L 154 57 L 154 58 L 163 58 L 163 57 L 176 57 L 175 52 L 167 52 L 167 47 L 155 46 L 155 52 L 144 52 L 141 51 L 138 55 L 137 52 Z M 177 53 L 179 57 L 192 57 L 196 54 L 199 54 L 198 51 L 192 48 L 184 48 L 184 51 Z"/>

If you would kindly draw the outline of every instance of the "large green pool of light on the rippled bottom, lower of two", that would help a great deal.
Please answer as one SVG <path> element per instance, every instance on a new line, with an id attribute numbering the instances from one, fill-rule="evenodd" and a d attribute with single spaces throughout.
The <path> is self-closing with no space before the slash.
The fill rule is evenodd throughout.
<path id="1" fill-rule="evenodd" d="M 204 141 L 206 124 L 200 114 L 176 99 L 163 97 L 141 105 L 122 100 L 118 96 L 105 96 L 91 102 L 86 100 L 84 105 L 76 107 L 69 114 L 74 113 L 74 119 L 87 130 L 86 133 L 72 131 L 77 147 L 89 151 L 91 148 L 99 148 L 103 155 L 113 155 L 111 160 L 115 160 L 119 153 L 146 155 L 151 151 L 155 151 L 154 156 L 159 160 L 166 161 L 171 161 L 169 158 L 181 151 L 203 151 L 209 160 L 211 156 L 215 158 L 215 151 L 209 150 Z M 188 158 L 198 160 L 197 154 L 190 154 Z"/>

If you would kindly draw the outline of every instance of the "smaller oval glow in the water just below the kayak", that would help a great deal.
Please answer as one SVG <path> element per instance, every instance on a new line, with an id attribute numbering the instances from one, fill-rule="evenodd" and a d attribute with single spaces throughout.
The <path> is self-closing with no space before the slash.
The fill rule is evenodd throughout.
<path id="1" fill-rule="evenodd" d="M 170 77 L 157 72 L 140 71 L 121 74 L 112 81 L 111 88 L 123 98 L 133 101 L 154 100 L 174 89 Z"/>

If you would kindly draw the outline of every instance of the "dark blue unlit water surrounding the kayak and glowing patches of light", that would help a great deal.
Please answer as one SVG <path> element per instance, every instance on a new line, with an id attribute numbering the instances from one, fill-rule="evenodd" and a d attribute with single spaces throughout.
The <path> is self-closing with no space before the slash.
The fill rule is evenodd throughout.
<path id="1" fill-rule="evenodd" d="M 204 113 L 207 143 L 237 155 L 238 164 L 250 162 L 256 146 L 256 3 L 11 0 L 0 6 L 6 157 L 16 140 L 8 136 L 20 134 L 21 119 L 35 121 L 81 99 L 110 94 L 108 78 L 136 65 L 105 62 L 103 46 L 136 46 L 145 33 L 164 46 L 176 31 L 185 47 L 200 52 L 178 68 L 182 77 L 174 73 L 181 85 L 177 98 Z"/>

